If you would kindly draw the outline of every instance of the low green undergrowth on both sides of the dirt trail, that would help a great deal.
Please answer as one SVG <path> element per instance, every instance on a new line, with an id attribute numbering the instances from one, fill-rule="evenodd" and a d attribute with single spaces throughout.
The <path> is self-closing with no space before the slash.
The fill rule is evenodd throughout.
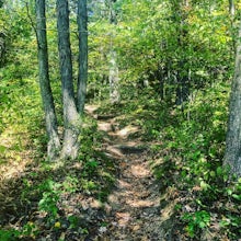
<path id="1" fill-rule="evenodd" d="M 8 68 L 11 66 L 4 71 Z M 94 226 L 105 227 L 102 213 L 118 167 L 100 150 L 103 134 L 96 120 L 84 120 L 78 160 L 48 162 L 36 82 L 8 74 L 4 78 L 1 170 L 12 165 L 13 171 L 1 176 L 0 240 L 43 236 L 71 240 L 93 233 Z M 113 106 L 102 102 L 96 113 L 117 116 L 119 128 L 140 127 L 141 131 L 130 138 L 149 146 L 148 159 L 161 191 L 160 206 L 174 204 L 176 236 L 182 240 L 241 237 L 241 181 L 228 180 L 222 169 L 228 92 L 229 84 L 217 82 L 210 89 L 198 90 L 183 106 L 173 106 L 147 89 L 141 97 Z M 23 162 L 22 170 L 15 171 Z M 92 198 L 100 214 L 89 214 L 84 198 Z M 92 215 L 99 218 L 88 219 Z"/>

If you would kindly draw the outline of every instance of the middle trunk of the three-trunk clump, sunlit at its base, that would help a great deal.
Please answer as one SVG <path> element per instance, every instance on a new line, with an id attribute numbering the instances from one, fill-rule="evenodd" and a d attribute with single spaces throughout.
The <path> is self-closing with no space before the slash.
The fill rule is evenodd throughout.
<path id="1" fill-rule="evenodd" d="M 58 50 L 61 72 L 62 105 L 64 105 L 64 144 L 61 158 L 74 159 L 78 154 L 79 115 L 77 112 L 72 83 L 72 61 L 69 34 L 68 0 L 57 0 L 58 14 Z"/>

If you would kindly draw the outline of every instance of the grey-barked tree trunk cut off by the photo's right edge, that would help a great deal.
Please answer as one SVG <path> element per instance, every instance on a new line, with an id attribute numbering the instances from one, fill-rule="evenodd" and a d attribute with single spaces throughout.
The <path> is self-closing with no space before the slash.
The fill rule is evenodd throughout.
<path id="1" fill-rule="evenodd" d="M 241 24 L 237 39 L 223 167 L 230 168 L 230 176 L 241 177 Z"/>

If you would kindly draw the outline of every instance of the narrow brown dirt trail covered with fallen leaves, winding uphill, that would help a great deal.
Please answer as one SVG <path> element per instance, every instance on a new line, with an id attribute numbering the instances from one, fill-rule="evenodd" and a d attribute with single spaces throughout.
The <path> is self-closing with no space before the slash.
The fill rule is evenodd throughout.
<path id="1" fill-rule="evenodd" d="M 148 160 L 148 144 L 129 139 L 130 134 L 140 131 L 136 126 L 118 128 L 113 116 L 94 115 L 95 106 L 87 111 L 97 118 L 99 130 L 106 133 L 103 148 L 119 168 L 115 190 L 106 204 L 106 223 L 99 229 L 100 240 L 173 240 L 170 223 L 160 208 L 160 191 Z"/>

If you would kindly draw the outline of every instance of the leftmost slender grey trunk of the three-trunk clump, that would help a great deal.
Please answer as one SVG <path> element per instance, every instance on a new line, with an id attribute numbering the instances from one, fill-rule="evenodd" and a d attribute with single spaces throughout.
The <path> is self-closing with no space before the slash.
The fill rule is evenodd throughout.
<path id="1" fill-rule="evenodd" d="M 50 159 L 58 154 L 60 141 L 57 131 L 57 118 L 48 73 L 48 48 L 46 36 L 45 0 L 36 0 L 36 35 L 38 46 L 38 68 L 42 101 L 45 112 L 48 136 L 47 153 Z"/>

